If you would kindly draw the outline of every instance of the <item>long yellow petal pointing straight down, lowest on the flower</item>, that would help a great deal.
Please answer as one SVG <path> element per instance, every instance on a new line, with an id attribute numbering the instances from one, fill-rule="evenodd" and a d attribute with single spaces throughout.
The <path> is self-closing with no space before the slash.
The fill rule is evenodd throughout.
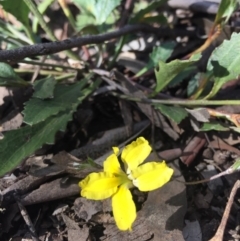
<path id="1" fill-rule="evenodd" d="M 132 200 L 131 192 L 120 186 L 119 190 L 112 197 L 113 216 L 120 230 L 131 230 L 136 219 L 136 207 Z"/>

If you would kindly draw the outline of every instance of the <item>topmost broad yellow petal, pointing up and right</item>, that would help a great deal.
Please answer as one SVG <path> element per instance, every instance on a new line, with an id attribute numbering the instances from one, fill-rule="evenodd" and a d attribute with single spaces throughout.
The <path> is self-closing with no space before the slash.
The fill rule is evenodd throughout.
<path id="1" fill-rule="evenodd" d="M 136 141 L 127 145 L 121 155 L 123 162 L 127 165 L 127 173 L 140 165 L 150 154 L 151 150 L 152 148 L 148 141 L 143 137 L 139 137 Z"/>

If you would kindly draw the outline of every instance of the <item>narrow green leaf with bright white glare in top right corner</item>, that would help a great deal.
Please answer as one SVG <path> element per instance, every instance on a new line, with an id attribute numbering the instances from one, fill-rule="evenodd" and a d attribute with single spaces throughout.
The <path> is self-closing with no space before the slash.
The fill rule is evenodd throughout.
<path id="1" fill-rule="evenodd" d="M 222 19 L 225 19 L 225 23 L 229 20 L 232 13 L 236 9 L 238 1 L 236 0 L 221 0 L 218 7 L 218 12 L 215 17 L 215 24 L 221 23 Z"/>

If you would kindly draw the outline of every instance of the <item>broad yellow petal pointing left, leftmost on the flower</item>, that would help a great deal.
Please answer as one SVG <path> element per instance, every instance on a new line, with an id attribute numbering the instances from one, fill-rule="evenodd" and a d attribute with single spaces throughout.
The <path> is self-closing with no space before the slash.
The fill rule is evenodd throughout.
<path id="1" fill-rule="evenodd" d="M 113 174 L 100 172 L 91 173 L 79 182 L 82 188 L 81 196 L 93 200 L 102 200 L 111 197 L 122 183 L 121 178 Z"/>

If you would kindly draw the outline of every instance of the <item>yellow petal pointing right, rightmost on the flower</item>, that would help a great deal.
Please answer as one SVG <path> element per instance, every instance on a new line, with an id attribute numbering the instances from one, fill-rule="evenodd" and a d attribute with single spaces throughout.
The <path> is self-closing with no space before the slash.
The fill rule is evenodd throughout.
<path id="1" fill-rule="evenodd" d="M 132 172 L 133 184 L 140 191 L 152 191 L 166 184 L 173 174 L 165 162 L 149 162 L 139 166 Z"/>

